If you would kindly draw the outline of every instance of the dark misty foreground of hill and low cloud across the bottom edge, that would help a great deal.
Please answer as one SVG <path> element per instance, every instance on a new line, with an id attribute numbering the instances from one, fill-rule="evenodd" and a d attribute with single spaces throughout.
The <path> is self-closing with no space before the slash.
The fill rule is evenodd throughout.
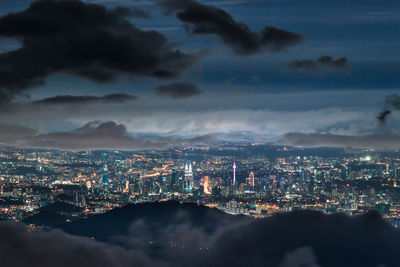
<path id="1" fill-rule="evenodd" d="M 19 225 L 1 223 L 2 262 L 6 266 L 400 266 L 400 234 L 375 211 L 349 217 L 303 210 L 253 220 L 171 201 L 129 205 L 60 228 L 63 231 L 30 233 Z"/>

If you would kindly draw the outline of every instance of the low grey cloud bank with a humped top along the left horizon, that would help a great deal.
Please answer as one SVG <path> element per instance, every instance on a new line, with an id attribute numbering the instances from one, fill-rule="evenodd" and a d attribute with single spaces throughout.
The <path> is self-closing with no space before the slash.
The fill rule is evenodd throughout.
<path id="1" fill-rule="evenodd" d="M 213 144 L 213 137 L 203 135 L 193 138 L 132 137 L 125 125 L 113 121 L 92 121 L 70 132 L 38 133 L 20 126 L 0 126 L 0 143 L 24 148 L 60 150 L 147 150 L 167 149 L 176 146 Z"/>

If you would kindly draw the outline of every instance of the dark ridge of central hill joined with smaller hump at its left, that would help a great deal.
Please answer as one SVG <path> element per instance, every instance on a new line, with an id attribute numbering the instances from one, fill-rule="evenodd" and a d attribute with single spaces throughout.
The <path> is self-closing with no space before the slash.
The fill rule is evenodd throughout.
<path id="1" fill-rule="evenodd" d="M 229 223 L 252 221 L 243 215 L 233 216 L 215 208 L 194 203 L 181 204 L 178 201 L 130 204 L 81 220 L 74 220 L 63 214 L 73 211 L 74 208 L 79 209 L 71 204 L 56 202 L 41 208 L 37 214 L 26 218 L 24 223 L 58 228 L 69 234 L 111 242 L 116 235 L 128 234 L 133 223 L 146 222 L 151 232 L 157 234 L 165 226 L 181 223 L 189 223 L 212 233 L 218 229 L 218 224 L 222 221 Z M 66 222 L 67 219 L 72 222 Z"/>

